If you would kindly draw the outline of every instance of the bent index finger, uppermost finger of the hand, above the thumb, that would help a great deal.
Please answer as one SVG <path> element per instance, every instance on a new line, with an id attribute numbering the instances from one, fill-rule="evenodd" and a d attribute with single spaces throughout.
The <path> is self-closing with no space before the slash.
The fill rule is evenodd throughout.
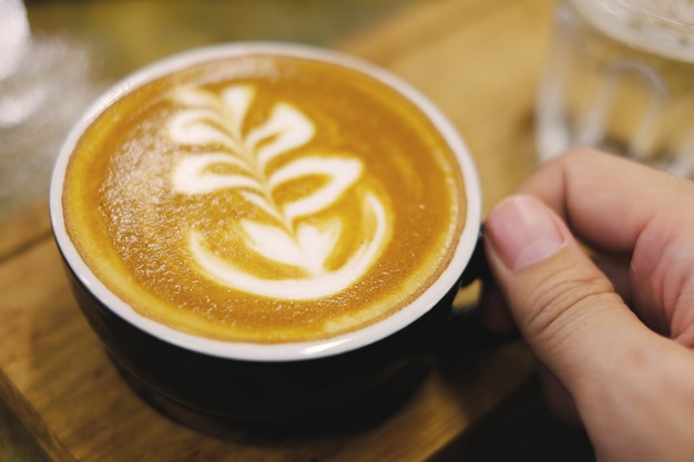
<path id="1" fill-rule="evenodd" d="M 694 185 L 616 155 L 575 148 L 542 165 L 520 187 L 562 216 L 575 235 L 610 253 L 630 254 L 651 225 L 661 238 L 693 222 Z"/>

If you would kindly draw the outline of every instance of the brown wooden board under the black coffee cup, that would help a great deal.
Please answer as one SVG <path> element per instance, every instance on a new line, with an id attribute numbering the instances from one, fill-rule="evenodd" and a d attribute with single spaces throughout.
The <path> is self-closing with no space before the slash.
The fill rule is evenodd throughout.
<path id="1" fill-rule="evenodd" d="M 428 94 L 467 140 L 484 209 L 535 164 L 532 111 L 551 0 L 437 0 L 334 47 Z M 216 439 L 183 428 L 120 379 L 70 294 L 47 206 L 0 227 L 0 396 L 55 461 L 428 461 L 532 373 L 522 343 L 435 361 L 405 404 L 348 434 Z M 473 297 L 463 294 L 462 299 Z"/>

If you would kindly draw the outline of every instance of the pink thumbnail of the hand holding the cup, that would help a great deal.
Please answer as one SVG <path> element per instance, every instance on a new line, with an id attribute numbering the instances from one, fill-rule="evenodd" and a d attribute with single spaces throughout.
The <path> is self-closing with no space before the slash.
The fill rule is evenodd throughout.
<path id="1" fill-rule="evenodd" d="M 529 196 L 513 196 L 497 205 L 487 217 L 484 230 L 512 270 L 551 257 L 565 243 L 551 212 Z"/>

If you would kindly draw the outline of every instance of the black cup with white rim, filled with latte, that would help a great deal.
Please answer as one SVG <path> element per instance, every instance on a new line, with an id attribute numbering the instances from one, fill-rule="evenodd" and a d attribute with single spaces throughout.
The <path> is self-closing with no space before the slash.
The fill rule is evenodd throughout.
<path id="1" fill-rule="evenodd" d="M 453 125 L 391 73 L 298 44 L 124 79 L 65 140 L 50 213 L 113 363 L 193 425 L 355 407 L 478 270 L 480 186 Z"/>

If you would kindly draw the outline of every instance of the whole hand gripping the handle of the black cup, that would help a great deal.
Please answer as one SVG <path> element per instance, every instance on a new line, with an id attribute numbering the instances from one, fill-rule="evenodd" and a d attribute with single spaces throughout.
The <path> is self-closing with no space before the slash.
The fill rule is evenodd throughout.
<path id="1" fill-rule="evenodd" d="M 694 461 L 694 183 L 576 148 L 500 202 L 484 239 L 483 320 L 520 330 L 596 459 Z"/>

